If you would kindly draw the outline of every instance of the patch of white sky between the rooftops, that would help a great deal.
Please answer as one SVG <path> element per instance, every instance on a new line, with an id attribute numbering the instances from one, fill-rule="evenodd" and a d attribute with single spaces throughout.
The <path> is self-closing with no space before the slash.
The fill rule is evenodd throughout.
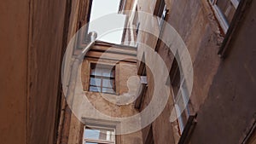
<path id="1" fill-rule="evenodd" d="M 90 13 L 89 32 L 97 32 L 97 39 L 109 43 L 121 43 L 123 27 L 125 26 L 125 15 L 117 14 L 119 10 L 119 1 L 120 0 L 93 0 Z M 114 31 L 116 28 L 119 30 Z M 108 31 L 114 32 L 106 34 Z M 102 34 L 104 33 L 106 35 L 102 37 Z"/>

